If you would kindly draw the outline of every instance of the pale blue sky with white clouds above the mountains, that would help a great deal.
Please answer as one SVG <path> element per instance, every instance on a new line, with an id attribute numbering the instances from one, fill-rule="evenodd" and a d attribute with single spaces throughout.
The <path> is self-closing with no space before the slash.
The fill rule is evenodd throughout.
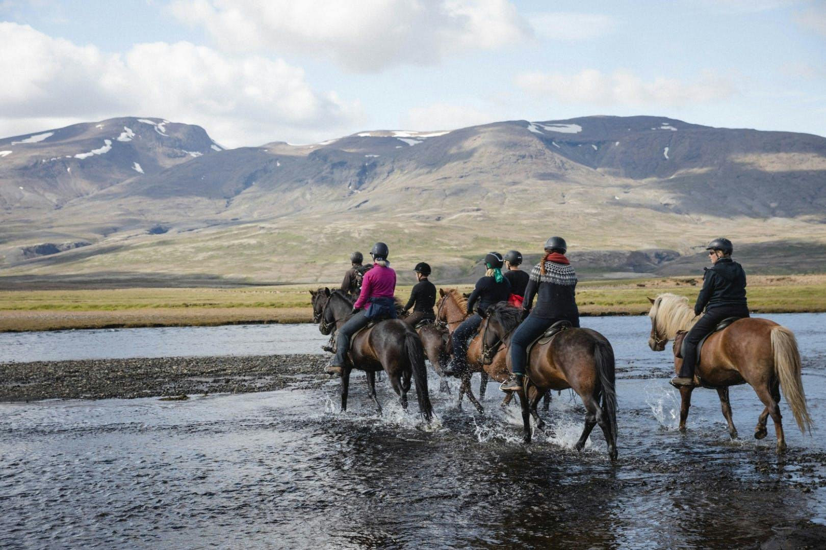
<path id="1" fill-rule="evenodd" d="M 826 0 L 0 0 L 0 137 L 115 116 L 227 147 L 655 115 L 826 136 Z"/>

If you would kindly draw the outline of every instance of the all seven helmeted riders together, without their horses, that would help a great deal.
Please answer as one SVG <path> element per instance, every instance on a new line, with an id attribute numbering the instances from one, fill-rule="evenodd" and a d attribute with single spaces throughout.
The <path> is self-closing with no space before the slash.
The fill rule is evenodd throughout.
<path id="1" fill-rule="evenodd" d="M 746 274 L 743 266 L 731 257 L 732 242 L 724 237 L 716 238 L 705 250 L 711 266 L 704 268 L 703 286 L 694 306 L 695 315 L 702 317 L 685 337 L 682 367 L 679 375 L 671 380 L 676 387 L 695 385 L 696 347 L 704 336 L 714 331 L 723 319 L 749 317 Z M 325 372 L 341 372 L 347 360 L 350 339 L 357 331 L 369 322 L 396 318 L 396 271 L 387 260 L 389 253 L 385 243 L 377 242 L 370 251 L 372 265 L 363 266 L 361 252 L 350 256 L 352 267 L 344 275 L 341 290 L 357 299 L 351 317 L 337 332 L 335 357 Z M 485 313 L 496 303 L 508 302 L 521 308 L 522 322 L 510 339 L 511 375 L 500 388 L 505 392 L 522 388 L 531 343 L 557 322 L 567 321 L 572 327 L 579 327 L 577 273 L 566 253 L 565 239 L 550 237 L 544 245 L 544 256 L 527 272 L 520 270 L 522 254 L 519 251 L 511 250 L 505 256 L 489 252 L 484 260 L 485 275 L 477 280 L 468 298 L 468 317 L 453 331 L 453 359 L 444 374 L 460 376 L 466 372 L 468 344 L 482 324 L 479 312 Z M 503 268 L 507 269 L 505 273 L 502 273 Z M 436 303 L 436 287 L 429 280 L 430 266 L 422 261 L 413 270 L 418 283 L 403 308 L 404 313 L 409 313 L 404 320 L 411 327 L 434 321 Z"/>

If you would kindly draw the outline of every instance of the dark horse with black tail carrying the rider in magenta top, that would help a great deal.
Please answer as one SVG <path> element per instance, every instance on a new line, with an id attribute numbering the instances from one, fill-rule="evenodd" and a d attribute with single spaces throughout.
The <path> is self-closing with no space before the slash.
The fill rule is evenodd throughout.
<path id="1" fill-rule="evenodd" d="M 327 302 L 321 313 L 319 331 L 327 335 L 335 327 L 339 329 L 350 317 L 355 299 L 341 290 L 324 290 Z M 396 394 L 401 397 L 401 407 L 407 408 L 407 392 L 411 388 L 411 375 L 415 381 L 420 415 L 430 423 L 433 407 L 427 391 L 425 355 L 419 335 L 399 319 L 387 319 L 366 327 L 354 335 L 350 342 L 349 361 L 341 369 L 341 410 L 347 410 L 350 371 L 363 370 L 367 374 L 368 391 L 376 411 L 381 414 L 382 405 L 376 396 L 376 373 L 387 372 Z"/>

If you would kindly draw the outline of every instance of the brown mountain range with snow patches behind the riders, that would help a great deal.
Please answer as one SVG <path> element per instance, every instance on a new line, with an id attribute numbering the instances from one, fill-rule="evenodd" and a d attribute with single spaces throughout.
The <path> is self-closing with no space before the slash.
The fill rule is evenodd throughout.
<path id="1" fill-rule="evenodd" d="M 694 273 L 719 235 L 823 271 L 826 139 L 588 116 L 225 149 L 126 117 L 0 139 L 0 217 L 0 279 L 330 281 L 383 240 L 456 282 L 552 234 L 588 276 Z"/>

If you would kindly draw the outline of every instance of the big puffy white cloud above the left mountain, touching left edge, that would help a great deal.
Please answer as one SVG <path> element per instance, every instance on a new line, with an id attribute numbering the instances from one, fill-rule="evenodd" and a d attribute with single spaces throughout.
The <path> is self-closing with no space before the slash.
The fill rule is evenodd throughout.
<path id="1" fill-rule="evenodd" d="M 162 116 L 204 126 L 231 145 L 311 139 L 358 115 L 358 105 L 311 89 L 281 59 L 230 57 L 188 42 L 134 45 L 126 54 L 0 23 L 0 135 L 45 120 Z"/>

